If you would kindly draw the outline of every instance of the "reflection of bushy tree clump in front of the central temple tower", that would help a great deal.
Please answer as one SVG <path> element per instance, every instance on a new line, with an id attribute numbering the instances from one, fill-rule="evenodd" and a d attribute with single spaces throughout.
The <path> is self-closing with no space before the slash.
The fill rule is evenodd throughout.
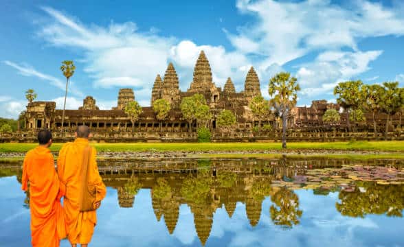
<path id="1" fill-rule="evenodd" d="M 197 178 L 189 177 L 183 180 L 181 196 L 187 202 L 205 204 L 210 194 L 210 186 L 213 180 L 208 170 L 200 170 Z"/>

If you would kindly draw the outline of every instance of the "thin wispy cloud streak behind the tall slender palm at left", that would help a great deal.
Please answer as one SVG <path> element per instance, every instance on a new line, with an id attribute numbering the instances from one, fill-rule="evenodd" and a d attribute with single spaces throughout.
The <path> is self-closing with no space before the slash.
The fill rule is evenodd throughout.
<path id="1" fill-rule="evenodd" d="M 41 80 L 45 80 L 47 82 L 50 82 L 51 85 L 56 86 L 58 89 L 61 89 L 65 91 L 66 89 L 66 84 L 65 82 L 62 82 L 62 80 L 55 78 L 52 75 L 47 75 L 45 73 L 41 73 L 34 69 L 34 67 L 30 66 L 29 64 L 16 64 L 15 62 L 11 62 L 8 60 L 3 61 L 4 64 L 13 67 L 16 69 L 21 75 L 27 76 L 27 77 L 34 77 L 38 78 Z M 74 95 L 82 96 L 82 92 L 78 91 L 76 89 L 76 86 L 74 86 L 74 82 L 69 82 L 69 92 L 73 93 Z"/>

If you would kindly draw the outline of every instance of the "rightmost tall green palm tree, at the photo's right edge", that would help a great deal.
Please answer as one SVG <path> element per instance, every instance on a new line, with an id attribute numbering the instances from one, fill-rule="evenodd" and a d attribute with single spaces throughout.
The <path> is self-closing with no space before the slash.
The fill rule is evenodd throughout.
<path id="1" fill-rule="evenodd" d="M 385 139 L 388 137 L 388 126 L 390 117 L 398 113 L 403 106 L 402 89 L 399 88 L 399 82 L 383 82 L 385 93 L 382 97 L 381 109 L 388 115 L 385 122 Z"/>

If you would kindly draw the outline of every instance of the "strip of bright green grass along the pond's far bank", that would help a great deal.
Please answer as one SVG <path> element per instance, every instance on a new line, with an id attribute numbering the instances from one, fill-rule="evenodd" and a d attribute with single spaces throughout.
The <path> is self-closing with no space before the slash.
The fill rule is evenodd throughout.
<path id="1" fill-rule="evenodd" d="M 62 143 L 54 143 L 52 151 Z M 98 152 L 237 152 L 282 150 L 281 143 L 93 143 Z M 332 143 L 287 143 L 288 150 L 352 150 L 404 152 L 404 141 L 355 141 Z M 35 143 L 0 143 L 0 152 L 27 152 Z"/>

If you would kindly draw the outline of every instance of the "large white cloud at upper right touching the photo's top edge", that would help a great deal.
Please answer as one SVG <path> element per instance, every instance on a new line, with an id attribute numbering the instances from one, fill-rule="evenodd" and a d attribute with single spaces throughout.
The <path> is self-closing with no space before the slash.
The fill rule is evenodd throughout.
<path id="1" fill-rule="evenodd" d="M 228 34 L 229 40 L 238 51 L 265 56 L 262 66 L 282 65 L 315 50 L 357 50 L 361 38 L 404 34 L 402 14 L 364 0 L 344 7 L 330 1 L 238 0 L 237 8 L 256 22 Z"/>

